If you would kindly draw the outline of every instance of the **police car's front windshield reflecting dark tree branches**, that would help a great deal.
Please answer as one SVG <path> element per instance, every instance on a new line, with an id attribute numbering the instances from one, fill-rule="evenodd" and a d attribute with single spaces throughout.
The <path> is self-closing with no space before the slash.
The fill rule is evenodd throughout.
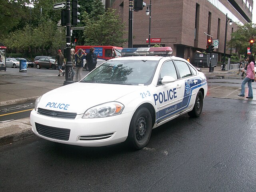
<path id="1" fill-rule="evenodd" d="M 107 61 L 88 74 L 81 82 L 149 85 L 158 61 L 116 60 Z"/>

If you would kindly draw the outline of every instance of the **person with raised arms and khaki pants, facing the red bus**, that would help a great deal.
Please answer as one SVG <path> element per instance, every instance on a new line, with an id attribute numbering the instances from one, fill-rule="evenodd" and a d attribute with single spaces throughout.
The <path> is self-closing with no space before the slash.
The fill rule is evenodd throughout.
<path id="1" fill-rule="evenodd" d="M 86 53 L 80 48 L 74 55 L 76 66 L 76 81 L 80 81 L 82 79 L 82 71 L 84 67 L 84 59 L 86 58 Z"/>

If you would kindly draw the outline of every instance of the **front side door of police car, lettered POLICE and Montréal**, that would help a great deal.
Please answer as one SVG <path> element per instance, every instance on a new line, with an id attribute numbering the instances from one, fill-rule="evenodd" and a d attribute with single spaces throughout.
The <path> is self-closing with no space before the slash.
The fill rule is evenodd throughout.
<path id="1" fill-rule="evenodd" d="M 161 80 L 164 76 L 171 76 L 175 81 L 162 84 Z M 156 112 L 156 122 L 162 124 L 175 118 L 180 114 L 182 108 L 184 84 L 178 78 L 173 61 L 166 61 L 162 65 L 156 90 L 157 92 L 153 95 L 158 109 Z"/>

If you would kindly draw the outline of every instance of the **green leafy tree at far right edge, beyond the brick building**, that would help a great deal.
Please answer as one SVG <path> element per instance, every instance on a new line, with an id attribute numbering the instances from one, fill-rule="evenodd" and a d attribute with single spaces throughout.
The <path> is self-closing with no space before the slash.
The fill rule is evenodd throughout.
<path id="1" fill-rule="evenodd" d="M 250 47 L 250 39 L 256 36 L 256 24 L 246 23 L 244 25 L 237 25 L 238 30 L 231 34 L 231 40 L 227 45 L 228 47 L 236 47 L 239 54 L 244 54 L 247 52 L 247 47 Z"/>

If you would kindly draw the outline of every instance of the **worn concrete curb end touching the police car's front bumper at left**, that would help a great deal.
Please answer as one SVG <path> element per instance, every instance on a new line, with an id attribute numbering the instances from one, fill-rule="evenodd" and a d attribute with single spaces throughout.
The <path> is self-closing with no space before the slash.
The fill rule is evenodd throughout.
<path id="1" fill-rule="evenodd" d="M 26 128 L 26 129 L 20 130 L 17 133 L 0 137 L 0 146 L 10 144 L 12 142 L 16 142 L 32 136 L 34 136 L 34 132 L 32 131 L 32 128 Z"/>

